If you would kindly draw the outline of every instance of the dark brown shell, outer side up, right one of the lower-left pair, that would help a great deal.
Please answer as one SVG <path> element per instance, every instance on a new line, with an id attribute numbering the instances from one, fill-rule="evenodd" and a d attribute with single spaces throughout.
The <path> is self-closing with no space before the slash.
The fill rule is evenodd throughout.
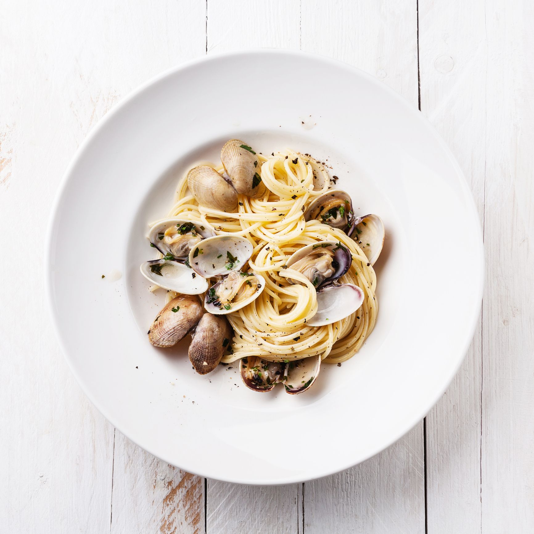
<path id="1" fill-rule="evenodd" d="M 205 313 L 192 333 L 189 359 L 199 374 L 210 373 L 219 365 L 233 337 L 226 317 Z"/>

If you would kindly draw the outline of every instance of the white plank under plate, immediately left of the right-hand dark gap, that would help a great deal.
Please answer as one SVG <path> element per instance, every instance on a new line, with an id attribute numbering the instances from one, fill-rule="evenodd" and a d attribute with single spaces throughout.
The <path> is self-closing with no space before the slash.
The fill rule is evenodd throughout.
<path id="1" fill-rule="evenodd" d="M 303 50 L 366 70 L 417 108 L 415 2 L 302 0 L 301 19 Z M 304 531 L 424 532 L 423 461 L 421 421 L 364 464 L 304 484 Z"/>

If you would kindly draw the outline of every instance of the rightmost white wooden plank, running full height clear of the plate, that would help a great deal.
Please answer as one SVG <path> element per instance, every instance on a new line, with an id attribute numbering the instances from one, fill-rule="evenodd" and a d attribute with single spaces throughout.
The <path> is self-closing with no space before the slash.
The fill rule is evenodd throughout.
<path id="1" fill-rule="evenodd" d="M 532 2 L 486 2 L 482 531 L 534 525 Z"/>

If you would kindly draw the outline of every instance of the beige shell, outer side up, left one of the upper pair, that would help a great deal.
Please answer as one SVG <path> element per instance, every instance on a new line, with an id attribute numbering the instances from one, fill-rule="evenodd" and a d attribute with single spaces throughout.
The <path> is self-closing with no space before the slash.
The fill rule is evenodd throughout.
<path id="1" fill-rule="evenodd" d="M 202 206 L 221 211 L 237 209 L 237 192 L 212 167 L 193 167 L 187 173 L 187 186 Z"/>

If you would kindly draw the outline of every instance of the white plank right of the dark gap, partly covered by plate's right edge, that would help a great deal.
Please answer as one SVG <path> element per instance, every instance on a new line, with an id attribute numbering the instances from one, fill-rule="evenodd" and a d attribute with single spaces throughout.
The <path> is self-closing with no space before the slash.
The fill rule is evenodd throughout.
<path id="1" fill-rule="evenodd" d="M 419 0 L 421 111 L 456 155 L 481 225 L 488 64 L 484 15 L 482 0 L 447 5 Z M 481 531 L 481 328 L 479 321 L 458 375 L 427 416 L 429 534 Z"/>

